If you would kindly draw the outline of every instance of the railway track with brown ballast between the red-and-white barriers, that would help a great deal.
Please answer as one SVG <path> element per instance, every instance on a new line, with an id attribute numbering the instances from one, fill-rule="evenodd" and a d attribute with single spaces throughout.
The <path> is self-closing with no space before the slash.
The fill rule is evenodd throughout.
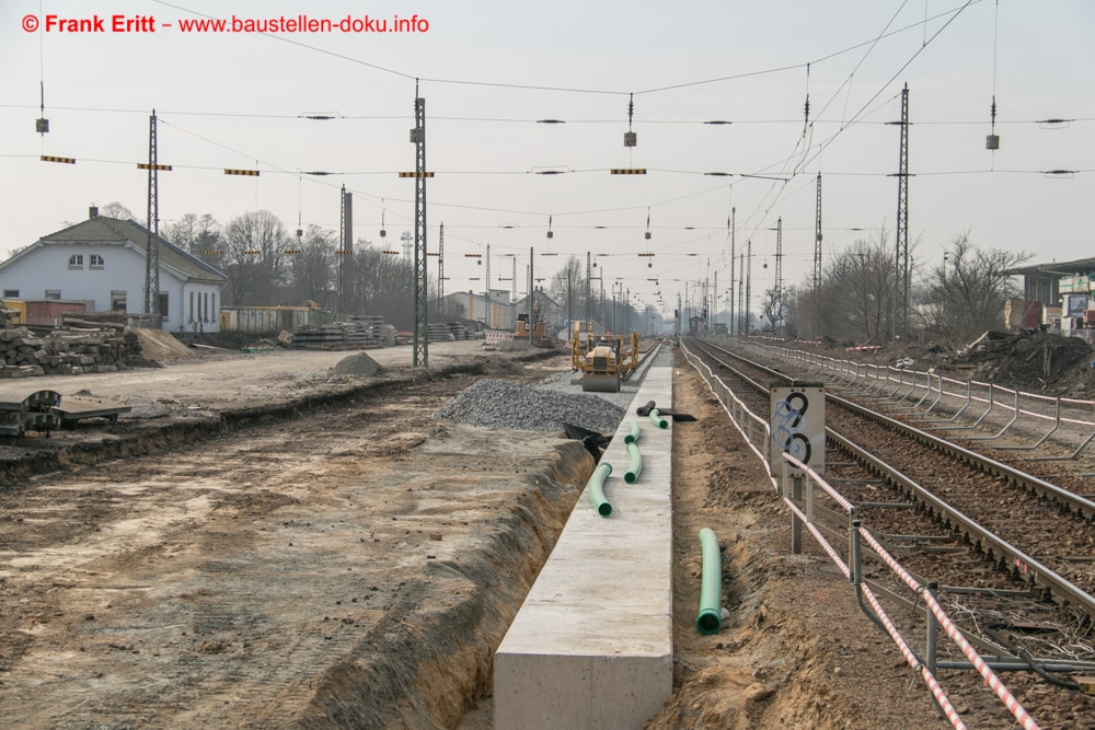
<path id="1" fill-rule="evenodd" d="M 794 378 L 710 343 L 685 347 L 765 420 L 769 386 Z M 1054 649 L 1048 653 L 1057 659 L 1095 661 L 1095 503 L 846 397 L 827 395 L 826 420 L 826 480 L 919 582 L 942 583 L 941 602 L 965 616 L 972 642 L 1000 657 L 1014 657 L 1015 639 L 1038 649 L 1030 653 Z M 848 518 L 833 502 L 816 506 L 831 542 L 846 544 Z M 914 607 L 891 587 L 868 582 Z M 1050 626 L 1056 644 L 1029 640 L 1035 627 Z"/>

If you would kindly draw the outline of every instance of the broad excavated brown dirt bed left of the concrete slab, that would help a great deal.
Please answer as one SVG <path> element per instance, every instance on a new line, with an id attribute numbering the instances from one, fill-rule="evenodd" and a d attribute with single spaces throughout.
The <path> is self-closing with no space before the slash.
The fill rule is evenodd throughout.
<path id="1" fill-rule="evenodd" d="M 453 727 L 592 470 L 577 441 L 428 419 L 482 373 L 89 427 L 5 460 L 10 719 Z"/>

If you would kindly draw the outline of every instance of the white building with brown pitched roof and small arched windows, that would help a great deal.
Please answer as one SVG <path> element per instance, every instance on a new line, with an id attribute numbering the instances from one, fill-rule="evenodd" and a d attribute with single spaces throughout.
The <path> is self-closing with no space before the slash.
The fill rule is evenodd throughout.
<path id="1" fill-rule="evenodd" d="M 96 312 L 145 309 L 148 229 L 99 215 L 43 236 L 0 263 L 3 299 L 84 301 Z M 160 313 L 172 332 L 217 332 L 227 277 L 159 237 Z"/>

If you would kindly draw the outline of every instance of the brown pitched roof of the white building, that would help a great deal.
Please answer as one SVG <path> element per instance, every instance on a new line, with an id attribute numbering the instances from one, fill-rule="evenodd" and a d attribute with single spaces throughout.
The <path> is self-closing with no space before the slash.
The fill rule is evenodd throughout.
<path id="1" fill-rule="evenodd" d="M 39 246 L 58 243 L 129 244 L 143 255 L 148 248 L 148 229 L 137 221 L 96 216 L 42 236 L 37 242 L 9 258 L 8 262 L 0 264 L 0 267 L 25 256 Z M 155 237 L 160 242 L 161 267 L 173 269 L 181 277 L 192 281 L 222 285 L 228 280 L 227 276 L 186 253 L 162 235 Z"/>

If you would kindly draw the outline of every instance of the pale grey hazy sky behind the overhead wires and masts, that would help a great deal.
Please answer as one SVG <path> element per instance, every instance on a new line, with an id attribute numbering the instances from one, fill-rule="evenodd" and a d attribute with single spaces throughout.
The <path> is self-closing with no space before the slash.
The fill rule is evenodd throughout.
<path id="1" fill-rule="evenodd" d="M 48 15 L 97 15 L 104 32 L 61 32 L 56 22 L 47 31 Z M 417 16 L 417 32 L 182 28 L 233 15 L 368 15 L 389 27 Z M 112 32 L 114 16 L 145 18 L 154 32 Z M 754 300 L 773 285 L 781 217 L 785 283 L 798 283 L 812 270 L 818 172 L 823 256 L 891 231 L 899 128 L 886 123 L 900 118 L 906 82 L 918 265 L 940 260 L 965 230 L 976 245 L 1038 262 L 1092 256 L 1093 37 L 1091 0 L 0 0 L 0 256 L 83 219 L 92 204 L 122 201 L 145 222 L 147 173 L 136 163 L 148 160 L 153 107 L 159 161 L 174 165 L 160 175 L 161 228 L 187 212 L 227 222 L 260 208 L 290 230 L 298 220 L 337 230 L 345 184 L 355 237 L 379 244 L 383 210 L 388 242 L 397 243 L 413 219 L 414 182 L 397 172 L 414 169 L 416 78 L 436 173 L 428 245 L 436 251 L 443 222 L 448 290 L 483 289 L 484 267 L 465 254 L 491 244 L 492 287 L 510 287 L 497 279 L 510 277 L 511 254 L 523 292 L 531 246 L 544 275 L 564 256 L 602 254 L 606 292 L 622 281 L 641 305 L 660 291 L 669 312 L 689 282 L 713 285 L 717 273 L 725 308 L 731 206 L 738 253 L 752 241 Z M 41 81 L 45 136 L 34 131 Z M 984 144 L 993 91 L 994 153 Z M 804 134 L 807 94 L 814 124 Z M 301 118 L 315 114 L 339 118 Z M 544 118 L 566 124 L 535 121 Z M 716 119 L 734 124 L 703 124 Z M 534 174 L 548 169 L 567 172 Z M 1079 172 L 1042 174 L 1050 170 Z"/>

